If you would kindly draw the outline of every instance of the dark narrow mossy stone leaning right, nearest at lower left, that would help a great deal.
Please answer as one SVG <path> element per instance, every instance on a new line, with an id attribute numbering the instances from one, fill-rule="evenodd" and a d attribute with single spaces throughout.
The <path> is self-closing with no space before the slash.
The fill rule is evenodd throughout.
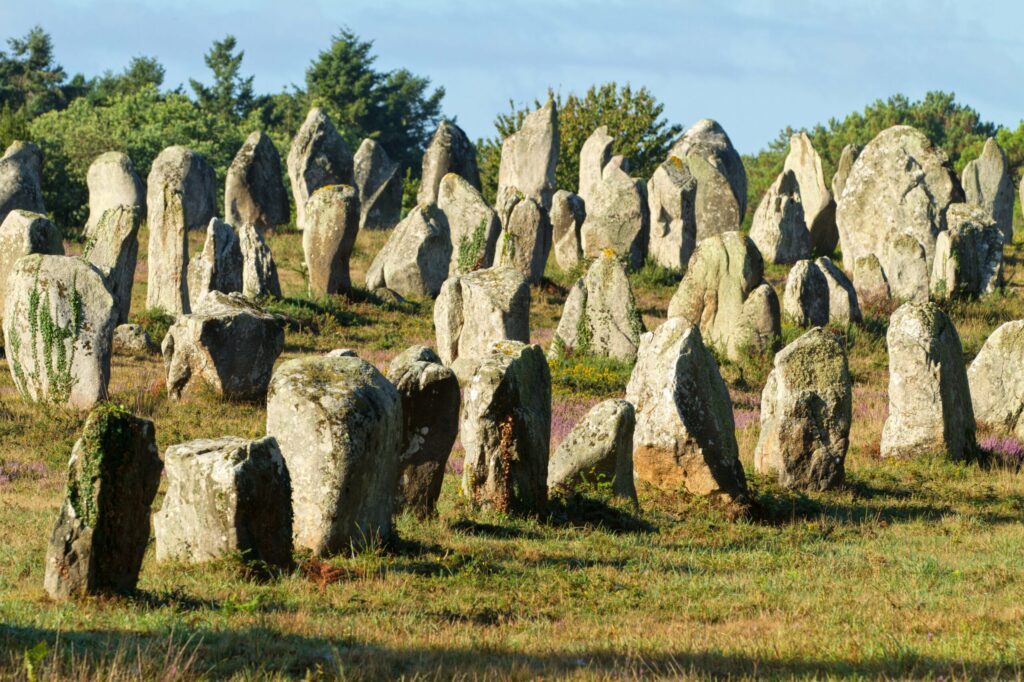
<path id="1" fill-rule="evenodd" d="M 50 597 L 135 590 L 162 468 L 153 422 L 114 404 L 89 415 L 46 550 Z"/>

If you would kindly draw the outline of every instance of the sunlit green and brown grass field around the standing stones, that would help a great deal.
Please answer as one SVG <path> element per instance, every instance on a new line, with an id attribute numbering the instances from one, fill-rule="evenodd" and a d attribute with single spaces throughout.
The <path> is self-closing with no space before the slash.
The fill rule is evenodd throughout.
<path id="1" fill-rule="evenodd" d="M 198 250 L 201 236 L 193 241 Z M 133 311 L 145 300 L 140 242 Z M 360 236 L 355 283 L 382 243 Z M 288 297 L 273 307 L 291 317 L 282 360 L 351 347 L 383 367 L 411 344 L 432 345 L 429 301 L 309 301 L 300 237 L 270 244 Z M 1024 250 L 1008 254 L 1004 294 L 950 306 L 967 360 L 999 324 L 1024 317 Z M 549 274 L 532 292 L 534 340 L 545 346 L 572 276 Z M 784 276 L 769 270 L 779 293 Z M 633 275 L 648 328 L 677 280 Z M 787 493 L 754 474 L 770 358 L 752 358 L 723 367 L 750 516 L 645 486 L 639 512 L 593 491 L 556 501 L 544 519 L 481 514 L 459 493 L 457 444 L 439 518 L 400 517 L 386 547 L 300 556 L 271 580 L 232 559 L 158 564 L 151 547 L 136 595 L 70 603 L 47 599 L 43 559 L 83 416 L 26 404 L 0 363 L 0 678 L 1024 678 L 1024 447 L 982 430 L 993 452 L 984 463 L 882 461 L 887 311 L 868 312 L 847 337 L 854 423 L 840 492 Z M 591 404 L 622 395 L 630 368 L 552 371 L 555 445 Z M 156 422 L 162 451 L 263 433 L 264 406 L 175 402 L 163 376 L 157 356 L 114 359 L 114 399 Z"/>

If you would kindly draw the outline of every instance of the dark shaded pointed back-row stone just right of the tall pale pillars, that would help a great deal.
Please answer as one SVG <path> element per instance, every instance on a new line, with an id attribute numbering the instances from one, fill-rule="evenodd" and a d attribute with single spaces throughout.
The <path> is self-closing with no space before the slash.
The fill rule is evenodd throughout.
<path id="1" fill-rule="evenodd" d="M 260 233 L 291 217 L 281 179 L 281 155 L 262 131 L 254 131 L 234 155 L 224 180 L 224 220 Z"/>

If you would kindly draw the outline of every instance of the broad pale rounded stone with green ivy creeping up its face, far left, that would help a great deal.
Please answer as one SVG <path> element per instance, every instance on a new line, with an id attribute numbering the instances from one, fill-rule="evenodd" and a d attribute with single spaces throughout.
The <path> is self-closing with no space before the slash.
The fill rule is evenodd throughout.
<path id="1" fill-rule="evenodd" d="M 22 395 L 77 410 L 104 399 L 116 319 L 93 265 L 73 256 L 19 258 L 7 278 L 3 336 Z"/>

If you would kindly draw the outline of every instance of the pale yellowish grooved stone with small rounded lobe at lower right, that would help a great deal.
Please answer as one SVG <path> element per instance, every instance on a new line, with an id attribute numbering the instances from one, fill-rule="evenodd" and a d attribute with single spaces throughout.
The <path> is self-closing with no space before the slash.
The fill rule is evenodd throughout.
<path id="1" fill-rule="evenodd" d="M 678 315 L 699 326 L 709 345 L 733 360 L 775 346 L 778 296 L 764 280 L 764 261 L 750 238 L 725 232 L 697 245 L 669 303 L 669 316 Z"/>

